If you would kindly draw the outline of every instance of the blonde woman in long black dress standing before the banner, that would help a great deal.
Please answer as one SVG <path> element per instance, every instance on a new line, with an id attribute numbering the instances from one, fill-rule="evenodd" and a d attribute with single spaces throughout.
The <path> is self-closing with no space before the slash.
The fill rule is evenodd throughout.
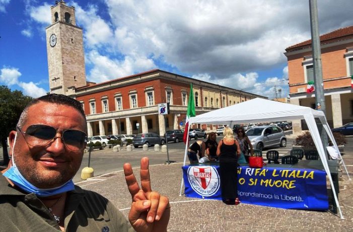
<path id="1" fill-rule="evenodd" d="M 217 156 L 220 157 L 222 200 L 228 205 L 237 205 L 240 203 L 237 190 L 237 161 L 241 151 L 232 129 L 226 127 L 223 135 L 217 147 Z"/>

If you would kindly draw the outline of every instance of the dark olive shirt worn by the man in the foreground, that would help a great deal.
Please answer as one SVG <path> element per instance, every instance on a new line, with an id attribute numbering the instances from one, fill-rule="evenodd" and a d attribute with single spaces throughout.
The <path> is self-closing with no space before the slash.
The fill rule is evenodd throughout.
<path id="1" fill-rule="evenodd" d="M 75 186 L 67 193 L 65 231 L 134 231 L 124 215 L 98 193 Z M 13 188 L 0 173 L 0 231 L 61 231 L 34 193 Z"/>

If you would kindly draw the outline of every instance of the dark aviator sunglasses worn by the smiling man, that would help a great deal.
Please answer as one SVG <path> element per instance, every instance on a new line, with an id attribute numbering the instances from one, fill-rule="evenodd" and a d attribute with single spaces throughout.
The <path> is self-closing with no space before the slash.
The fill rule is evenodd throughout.
<path id="1" fill-rule="evenodd" d="M 73 151 L 81 150 L 87 144 L 87 134 L 79 130 L 62 128 L 59 130 L 59 128 L 41 124 L 31 125 L 25 132 L 19 127 L 17 129 L 22 133 L 26 142 L 33 147 L 45 146 L 55 138 L 61 138 L 65 146 Z M 55 137 L 58 131 L 61 132 L 61 137 Z"/>

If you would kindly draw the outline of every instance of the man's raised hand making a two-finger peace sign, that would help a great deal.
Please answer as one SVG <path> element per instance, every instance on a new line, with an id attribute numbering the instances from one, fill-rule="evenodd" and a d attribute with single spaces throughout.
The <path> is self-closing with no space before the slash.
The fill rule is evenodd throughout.
<path id="1" fill-rule="evenodd" d="M 129 221 L 138 231 L 167 231 L 170 217 L 169 199 L 151 189 L 149 158 L 141 159 L 141 189 L 133 175 L 131 165 L 124 164 L 127 188 L 132 197 Z"/>

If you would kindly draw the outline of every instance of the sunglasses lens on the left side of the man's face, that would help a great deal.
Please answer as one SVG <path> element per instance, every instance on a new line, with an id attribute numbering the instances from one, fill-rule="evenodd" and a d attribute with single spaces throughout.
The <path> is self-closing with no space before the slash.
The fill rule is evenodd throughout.
<path id="1" fill-rule="evenodd" d="M 26 130 L 26 140 L 32 146 L 40 146 L 55 137 L 55 128 L 46 125 L 31 125 Z"/>

